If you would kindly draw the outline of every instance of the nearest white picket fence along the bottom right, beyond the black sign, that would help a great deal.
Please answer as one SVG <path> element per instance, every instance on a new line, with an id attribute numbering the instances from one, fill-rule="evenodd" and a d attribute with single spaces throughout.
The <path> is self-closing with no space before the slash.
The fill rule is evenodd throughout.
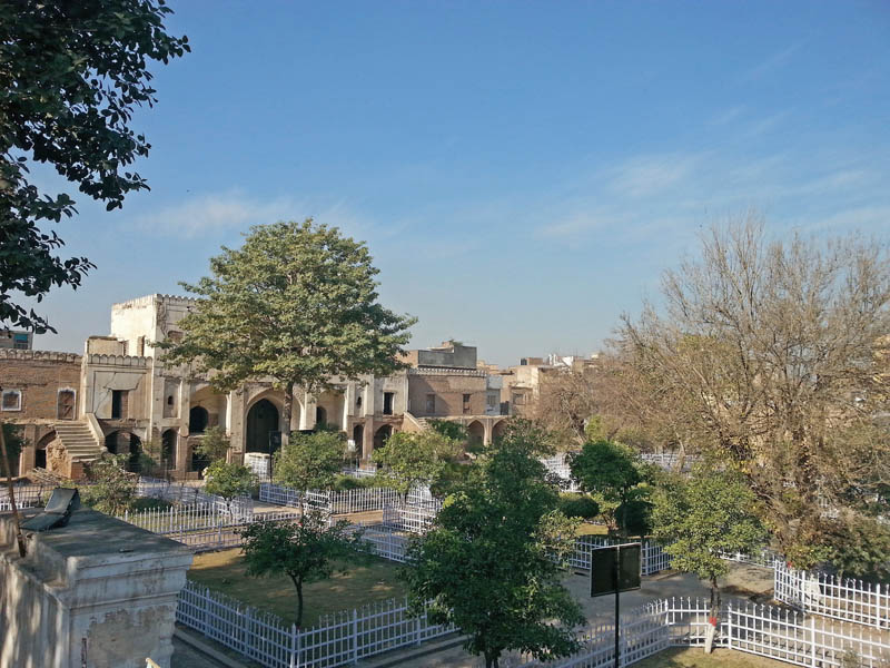
<path id="1" fill-rule="evenodd" d="M 669 647 L 702 646 L 709 625 L 704 599 L 662 599 L 621 616 L 621 666 L 630 666 Z M 615 627 L 600 623 L 580 636 L 583 649 L 550 662 L 510 661 L 532 668 L 597 668 L 615 665 Z M 714 647 L 760 655 L 809 668 L 840 667 L 842 657 L 854 656 L 862 668 L 883 668 L 890 661 L 890 644 L 879 632 L 861 627 L 832 625 L 830 620 L 772 606 L 731 602 L 724 607 Z"/>

